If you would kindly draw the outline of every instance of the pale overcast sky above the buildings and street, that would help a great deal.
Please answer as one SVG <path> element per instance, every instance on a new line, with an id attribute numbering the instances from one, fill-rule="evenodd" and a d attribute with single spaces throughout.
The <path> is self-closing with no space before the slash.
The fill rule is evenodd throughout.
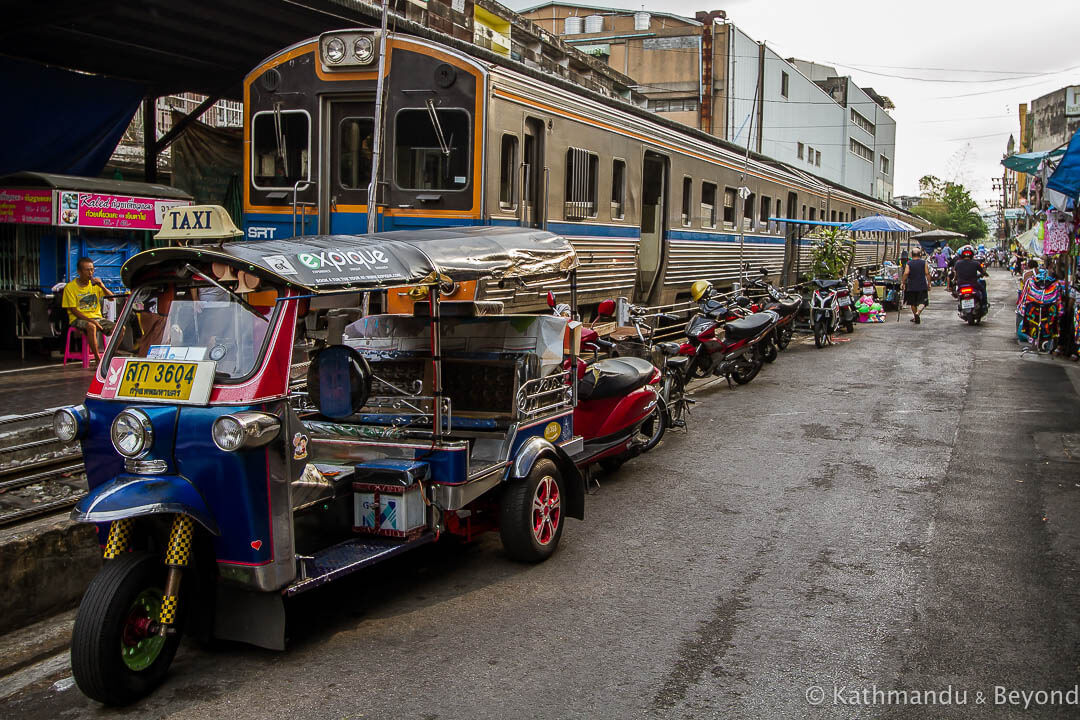
<path id="1" fill-rule="evenodd" d="M 521 9 L 538 2 L 505 4 Z M 896 105 L 896 195 L 917 194 L 919 178 L 936 175 L 963 182 L 985 207 L 993 200 L 990 178 L 1001 176 L 1009 134 L 1018 136 L 1017 106 L 1080 85 L 1080 0 L 595 4 L 689 17 L 701 10 L 725 10 L 730 22 L 782 57 L 834 65 L 858 85 L 888 96 Z"/>

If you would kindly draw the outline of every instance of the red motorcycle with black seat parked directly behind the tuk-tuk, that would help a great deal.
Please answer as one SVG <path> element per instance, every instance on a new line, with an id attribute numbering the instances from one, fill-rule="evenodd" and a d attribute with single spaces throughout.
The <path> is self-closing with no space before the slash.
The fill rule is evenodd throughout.
<path id="1" fill-rule="evenodd" d="M 570 307 L 556 305 L 551 293 L 548 304 L 556 315 L 570 317 Z M 615 314 L 615 301 L 602 302 L 598 314 Z M 581 452 L 572 456 L 578 467 L 599 463 L 610 472 L 654 445 L 652 436 L 664 429 L 657 402 L 660 370 L 639 357 L 596 358 L 613 347 L 592 328 L 582 328 L 581 349 L 592 351 L 593 361 L 578 358 L 573 430 L 584 440 Z"/>

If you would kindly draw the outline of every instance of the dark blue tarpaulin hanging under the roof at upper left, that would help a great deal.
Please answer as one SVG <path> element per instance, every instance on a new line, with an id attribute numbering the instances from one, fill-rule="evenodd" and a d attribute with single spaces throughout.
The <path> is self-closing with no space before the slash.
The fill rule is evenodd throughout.
<path id="1" fill-rule="evenodd" d="M 123 80 L 3 56 L 0 87 L 9 108 L 0 119 L 0 175 L 99 175 L 146 93 Z"/>

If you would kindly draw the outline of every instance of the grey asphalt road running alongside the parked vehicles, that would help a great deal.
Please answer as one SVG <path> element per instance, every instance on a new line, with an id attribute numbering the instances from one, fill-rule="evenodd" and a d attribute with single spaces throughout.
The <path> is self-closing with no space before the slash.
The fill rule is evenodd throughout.
<path id="1" fill-rule="evenodd" d="M 430 547 L 303 597 L 285 653 L 188 643 L 134 708 L 43 687 L 0 716 L 1080 717 L 999 703 L 1080 682 L 1080 369 L 1022 356 L 990 291 L 981 327 L 937 289 L 920 326 L 700 391 L 543 565 Z"/>

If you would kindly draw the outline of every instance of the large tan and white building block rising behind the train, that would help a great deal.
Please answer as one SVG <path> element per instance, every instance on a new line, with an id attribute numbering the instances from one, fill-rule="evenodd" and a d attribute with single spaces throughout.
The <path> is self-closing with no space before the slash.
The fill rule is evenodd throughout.
<path id="1" fill-rule="evenodd" d="M 548 2 L 522 11 L 635 82 L 648 107 L 807 173 L 892 201 L 892 104 L 835 68 L 785 59 L 727 21 Z"/>

